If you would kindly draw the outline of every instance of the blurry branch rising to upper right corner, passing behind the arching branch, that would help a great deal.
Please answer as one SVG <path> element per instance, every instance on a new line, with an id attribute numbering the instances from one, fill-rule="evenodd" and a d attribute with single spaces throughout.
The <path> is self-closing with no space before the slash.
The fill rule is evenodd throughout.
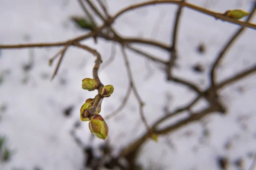
<path id="1" fill-rule="evenodd" d="M 253 17 L 253 14 L 256 12 L 256 2 L 254 3 L 253 9 L 250 12 L 249 17 L 247 18 L 247 22 L 250 21 L 250 19 Z M 241 35 L 241 33 L 244 31 L 244 27 L 240 28 L 238 31 L 236 31 L 236 33 L 230 38 L 230 40 L 227 42 L 227 44 L 224 46 L 224 48 L 221 50 L 221 52 L 218 54 L 217 59 L 215 60 L 213 66 L 212 66 L 212 70 L 211 70 L 211 83 L 212 83 L 212 87 L 215 86 L 215 72 L 216 72 L 216 68 L 218 66 L 218 64 L 221 62 L 221 59 L 224 58 L 225 54 L 227 53 L 227 51 L 230 49 L 231 45 L 233 45 L 233 43 L 236 41 L 236 39 L 239 37 L 239 35 Z"/>

